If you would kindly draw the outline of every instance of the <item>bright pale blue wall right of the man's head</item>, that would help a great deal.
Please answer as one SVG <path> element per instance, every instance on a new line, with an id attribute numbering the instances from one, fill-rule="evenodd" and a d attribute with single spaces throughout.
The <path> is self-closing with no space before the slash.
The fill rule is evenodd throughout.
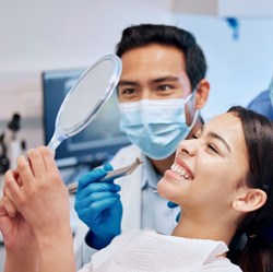
<path id="1" fill-rule="evenodd" d="M 273 76 L 273 19 L 239 20 L 239 38 L 224 19 L 176 15 L 176 24 L 189 29 L 207 59 L 211 95 L 202 110 L 205 119 L 238 104 L 247 106 L 265 90 Z"/>

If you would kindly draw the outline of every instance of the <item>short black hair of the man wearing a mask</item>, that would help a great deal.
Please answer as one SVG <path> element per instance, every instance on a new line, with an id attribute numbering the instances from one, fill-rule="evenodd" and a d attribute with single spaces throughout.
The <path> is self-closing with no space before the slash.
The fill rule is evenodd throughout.
<path id="1" fill-rule="evenodd" d="M 123 29 L 121 39 L 116 46 L 116 52 L 121 57 L 130 49 L 151 44 L 173 46 L 183 54 L 186 72 L 189 76 L 192 90 L 204 79 L 206 61 L 202 49 L 191 33 L 176 26 L 156 24 L 130 26 Z"/>

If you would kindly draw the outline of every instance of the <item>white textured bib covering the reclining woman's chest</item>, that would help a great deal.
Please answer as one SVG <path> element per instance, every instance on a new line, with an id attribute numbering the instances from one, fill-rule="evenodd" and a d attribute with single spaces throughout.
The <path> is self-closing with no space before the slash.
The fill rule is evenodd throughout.
<path id="1" fill-rule="evenodd" d="M 223 241 L 189 239 L 131 230 L 116 237 L 79 272 L 240 272 L 227 258 Z"/>

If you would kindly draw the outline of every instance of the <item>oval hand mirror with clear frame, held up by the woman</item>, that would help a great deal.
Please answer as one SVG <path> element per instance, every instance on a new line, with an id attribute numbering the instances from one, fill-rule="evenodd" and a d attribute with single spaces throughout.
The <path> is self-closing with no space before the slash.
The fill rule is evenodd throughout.
<path id="1" fill-rule="evenodd" d="M 117 86 L 121 69 L 120 58 L 107 55 L 85 70 L 60 106 L 48 147 L 55 151 L 95 118 Z"/>

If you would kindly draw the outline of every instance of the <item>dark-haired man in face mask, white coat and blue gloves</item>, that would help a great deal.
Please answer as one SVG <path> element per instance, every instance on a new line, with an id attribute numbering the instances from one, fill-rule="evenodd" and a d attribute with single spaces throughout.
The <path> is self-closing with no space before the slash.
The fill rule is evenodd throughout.
<path id="1" fill-rule="evenodd" d="M 199 110 L 210 92 L 204 55 L 183 29 L 152 24 L 128 27 L 117 55 L 122 61 L 120 129 L 132 145 L 120 150 L 111 165 L 127 166 L 135 157 L 143 165 L 115 180 L 122 188 L 120 193 L 119 186 L 88 174 L 80 179 L 75 210 L 90 227 L 86 244 L 96 249 L 107 246 L 121 229 L 150 227 L 169 234 L 174 228 L 179 211 L 155 192 L 156 185 L 173 165 L 178 143 L 202 125 Z M 84 248 L 86 245 L 78 255 L 87 259 L 83 258 L 80 265 L 90 260 Z"/>

